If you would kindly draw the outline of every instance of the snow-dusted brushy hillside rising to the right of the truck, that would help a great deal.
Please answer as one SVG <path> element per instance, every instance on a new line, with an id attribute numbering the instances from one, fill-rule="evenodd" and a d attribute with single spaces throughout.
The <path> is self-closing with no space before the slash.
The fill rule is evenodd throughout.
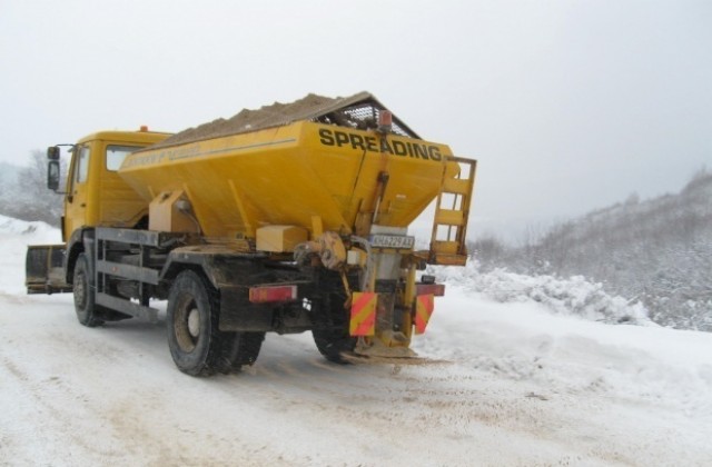
<path id="1" fill-rule="evenodd" d="M 712 173 L 698 172 L 675 195 L 631 196 L 551 229 L 515 250 L 481 244 L 487 267 L 582 275 L 607 292 L 640 301 L 657 324 L 712 331 Z M 496 247 L 496 246 L 495 246 Z"/>

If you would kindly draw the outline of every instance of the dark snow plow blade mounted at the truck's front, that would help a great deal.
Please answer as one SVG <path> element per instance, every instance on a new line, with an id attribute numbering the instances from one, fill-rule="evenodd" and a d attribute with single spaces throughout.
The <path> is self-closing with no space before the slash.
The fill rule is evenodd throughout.
<path id="1" fill-rule="evenodd" d="M 33 245 L 27 249 L 24 285 L 28 294 L 70 292 L 65 278 L 65 245 Z"/>

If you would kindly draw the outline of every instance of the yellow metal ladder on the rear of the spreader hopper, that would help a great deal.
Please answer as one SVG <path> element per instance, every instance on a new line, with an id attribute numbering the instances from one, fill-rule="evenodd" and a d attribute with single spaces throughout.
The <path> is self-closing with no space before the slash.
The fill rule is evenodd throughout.
<path id="1" fill-rule="evenodd" d="M 459 165 L 459 173 L 456 178 L 451 178 L 447 175 L 447 165 L 443 169 L 427 262 L 431 265 L 465 266 L 467 261 L 465 245 L 467 217 L 477 161 L 462 157 L 448 157 L 447 160 Z"/>

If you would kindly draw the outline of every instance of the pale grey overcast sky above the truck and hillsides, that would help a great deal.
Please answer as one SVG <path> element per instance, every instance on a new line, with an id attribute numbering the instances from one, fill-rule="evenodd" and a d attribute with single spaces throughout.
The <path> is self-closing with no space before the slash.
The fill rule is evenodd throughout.
<path id="1" fill-rule="evenodd" d="M 100 129 L 367 90 L 479 160 L 471 231 L 712 168 L 706 0 L 0 0 L 0 161 L 16 165 Z"/>

